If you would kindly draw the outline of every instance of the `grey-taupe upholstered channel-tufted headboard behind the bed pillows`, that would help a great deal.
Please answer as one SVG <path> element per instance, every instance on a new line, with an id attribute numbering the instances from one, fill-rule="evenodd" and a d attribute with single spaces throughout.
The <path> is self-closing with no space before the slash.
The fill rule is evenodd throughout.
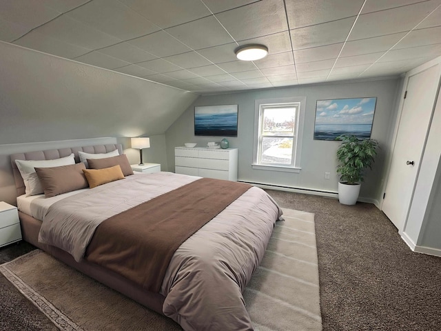
<path id="1" fill-rule="evenodd" d="M 68 157 L 70 154 L 74 153 L 75 162 L 80 161 L 78 152 L 86 152 L 91 154 L 96 153 L 107 153 L 112 152 L 112 150 L 118 150 L 119 154 L 123 154 L 123 146 L 119 143 L 112 143 L 107 145 L 94 145 L 94 146 L 83 146 L 83 147 L 72 147 L 72 148 L 60 148 L 57 150 L 39 150 L 36 152 L 25 152 L 18 154 L 11 154 L 11 165 L 12 172 L 14 174 L 15 186 L 17 188 L 17 197 L 21 194 L 25 194 L 25 184 L 21 178 L 19 169 L 15 160 L 53 160 L 59 159 L 61 157 Z"/>

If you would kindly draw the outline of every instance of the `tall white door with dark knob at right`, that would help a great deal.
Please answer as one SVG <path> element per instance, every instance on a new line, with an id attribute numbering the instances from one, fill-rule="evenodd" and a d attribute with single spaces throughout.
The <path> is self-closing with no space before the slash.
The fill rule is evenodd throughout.
<path id="1" fill-rule="evenodd" d="M 411 77 L 407 84 L 382 211 L 402 230 L 412 200 L 418 169 L 435 103 L 440 65 Z"/>

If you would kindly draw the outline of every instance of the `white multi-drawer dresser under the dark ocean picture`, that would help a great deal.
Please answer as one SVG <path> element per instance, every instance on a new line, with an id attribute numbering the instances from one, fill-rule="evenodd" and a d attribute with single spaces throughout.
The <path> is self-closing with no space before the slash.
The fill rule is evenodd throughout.
<path id="1" fill-rule="evenodd" d="M 237 160 L 237 148 L 174 148 L 176 174 L 237 181 Z"/>

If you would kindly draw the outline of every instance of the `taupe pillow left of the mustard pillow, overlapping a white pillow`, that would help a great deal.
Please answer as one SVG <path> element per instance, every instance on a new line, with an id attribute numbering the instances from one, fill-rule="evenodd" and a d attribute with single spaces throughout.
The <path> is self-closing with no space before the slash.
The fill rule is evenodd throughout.
<path id="1" fill-rule="evenodd" d="M 87 188 L 89 185 L 84 177 L 83 169 L 85 169 L 84 163 L 76 163 L 52 168 L 35 168 L 35 172 L 37 172 L 45 197 L 50 198 Z"/>

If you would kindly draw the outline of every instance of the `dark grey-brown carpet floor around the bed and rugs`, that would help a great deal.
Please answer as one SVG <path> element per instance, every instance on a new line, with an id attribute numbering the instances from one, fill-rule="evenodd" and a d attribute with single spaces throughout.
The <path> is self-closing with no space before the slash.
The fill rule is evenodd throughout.
<path id="1" fill-rule="evenodd" d="M 412 252 L 369 203 L 267 192 L 281 207 L 316 214 L 323 330 L 441 330 L 441 258 Z M 32 249 L 0 248 L 0 263 Z M 0 330 L 56 330 L 1 274 L 0 293 Z"/>

